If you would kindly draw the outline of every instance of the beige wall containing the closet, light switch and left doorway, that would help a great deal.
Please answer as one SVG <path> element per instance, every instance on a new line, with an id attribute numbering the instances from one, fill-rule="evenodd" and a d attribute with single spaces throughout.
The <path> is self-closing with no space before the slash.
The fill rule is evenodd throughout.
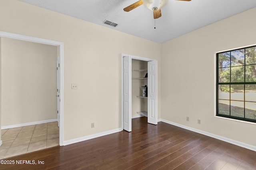
<path id="1" fill-rule="evenodd" d="M 121 53 L 161 64 L 159 43 L 18 0 L 0 1 L 0 21 L 0 31 L 64 42 L 64 141 L 121 127 Z M 158 70 L 158 115 L 160 82 Z"/>

